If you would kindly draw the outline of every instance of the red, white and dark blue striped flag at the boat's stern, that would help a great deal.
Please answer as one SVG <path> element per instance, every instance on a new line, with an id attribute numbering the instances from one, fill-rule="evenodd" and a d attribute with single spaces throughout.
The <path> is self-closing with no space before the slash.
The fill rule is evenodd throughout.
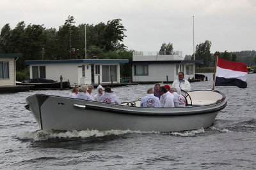
<path id="1" fill-rule="evenodd" d="M 217 57 L 215 86 L 246 88 L 248 69 L 243 62 L 234 62 Z"/>

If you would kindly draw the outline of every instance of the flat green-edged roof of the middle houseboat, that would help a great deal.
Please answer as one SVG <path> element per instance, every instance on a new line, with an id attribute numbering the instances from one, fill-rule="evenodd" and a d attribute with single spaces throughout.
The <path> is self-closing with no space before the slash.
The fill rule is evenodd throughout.
<path id="1" fill-rule="evenodd" d="M 127 59 L 77 59 L 77 60 L 26 60 L 25 64 L 58 64 L 58 63 L 87 63 L 87 64 L 95 64 L 95 63 L 128 63 Z"/>

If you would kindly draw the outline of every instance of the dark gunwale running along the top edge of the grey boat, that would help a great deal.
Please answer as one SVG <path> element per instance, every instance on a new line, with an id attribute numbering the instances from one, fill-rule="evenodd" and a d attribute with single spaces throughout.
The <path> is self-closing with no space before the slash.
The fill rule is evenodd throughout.
<path id="1" fill-rule="evenodd" d="M 194 90 L 195 91 L 203 91 L 203 90 Z M 212 90 L 207 90 L 207 91 L 212 91 Z M 97 111 L 105 111 L 109 113 L 118 113 L 118 114 L 125 114 L 125 115 L 135 115 L 135 116 L 146 116 L 146 117 L 178 117 L 178 116 L 188 116 L 188 115 L 202 115 L 202 114 L 207 114 L 207 113 L 214 113 L 216 111 L 220 111 L 225 106 L 227 106 L 227 101 L 226 101 L 226 96 L 222 92 L 219 91 L 213 91 L 217 92 L 218 94 L 221 94 L 222 99 L 216 101 L 215 103 L 211 104 L 205 104 L 201 106 L 186 106 L 186 110 L 189 108 L 205 108 L 204 110 L 191 110 L 191 111 L 179 111 L 181 109 L 184 110 L 184 108 L 141 108 L 138 106 L 125 106 L 125 105 L 118 105 L 118 104 L 107 104 L 107 103 L 100 103 L 98 101 L 86 101 L 84 104 L 79 104 L 82 106 L 85 106 L 85 110 L 97 110 Z M 45 94 L 34 94 L 32 96 L 36 96 L 38 100 L 40 100 L 40 96 L 44 96 L 44 101 L 48 97 L 61 97 L 61 98 L 68 98 L 69 97 L 62 97 L 62 96 L 52 96 L 52 95 L 45 95 Z M 31 97 L 31 96 L 29 96 Z M 46 98 L 45 98 L 46 97 Z M 28 98 L 28 97 L 27 97 Z M 72 99 L 72 100 L 77 100 L 77 101 L 84 101 L 83 99 Z M 41 111 L 41 106 L 44 103 L 44 101 L 40 101 L 39 107 Z M 225 102 L 225 103 L 224 103 Z M 90 104 L 90 103 L 100 103 L 95 106 L 95 104 Z M 209 106 L 216 105 L 214 108 L 207 108 Z M 220 105 L 220 106 L 218 106 Z M 74 105 L 73 105 L 74 106 Z M 115 106 L 115 107 L 113 107 Z M 125 108 L 125 109 L 124 109 Z M 129 110 L 129 108 L 132 108 L 132 110 Z M 128 110 L 127 110 L 128 109 Z M 161 109 L 161 111 L 159 111 Z M 172 110 L 174 109 L 174 110 Z M 170 112 L 172 110 L 172 112 Z"/>

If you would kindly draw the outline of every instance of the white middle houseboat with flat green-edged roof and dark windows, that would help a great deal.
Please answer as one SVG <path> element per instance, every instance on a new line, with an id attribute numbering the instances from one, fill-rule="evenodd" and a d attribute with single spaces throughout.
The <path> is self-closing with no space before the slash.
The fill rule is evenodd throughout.
<path id="1" fill-rule="evenodd" d="M 70 85 L 88 85 L 120 83 L 120 63 L 129 60 L 26 60 L 29 64 L 30 78 L 47 78 L 60 81 L 70 81 Z"/>

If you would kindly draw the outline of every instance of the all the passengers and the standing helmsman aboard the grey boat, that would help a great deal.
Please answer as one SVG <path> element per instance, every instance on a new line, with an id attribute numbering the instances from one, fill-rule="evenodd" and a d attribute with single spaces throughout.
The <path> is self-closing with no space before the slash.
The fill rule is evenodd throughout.
<path id="1" fill-rule="evenodd" d="M 97 94 L 92 96 L 92 85 L 82 85 L 74 87 L 72 93 L 68 97 L 76 99 L 84 99 L 88 101 L 99 101 L 103 103 L 121 104 L 118 97 L 113 93 L 111 87 L 103 89 L 102 85 L 97 87 Z M 184 73 L 179 73 L 179 79 L 173 81 L 170 85 L 161 86 L 157 83 L 154 88 L 147 90 L 147 96 L 142 97 L 141 107 L 147 108 L 174 108 L 184 107 L 186 99 L 181 94 L 181 90 L 186 92 L 191 90 L 189 81 L 184 79 Z"/>

